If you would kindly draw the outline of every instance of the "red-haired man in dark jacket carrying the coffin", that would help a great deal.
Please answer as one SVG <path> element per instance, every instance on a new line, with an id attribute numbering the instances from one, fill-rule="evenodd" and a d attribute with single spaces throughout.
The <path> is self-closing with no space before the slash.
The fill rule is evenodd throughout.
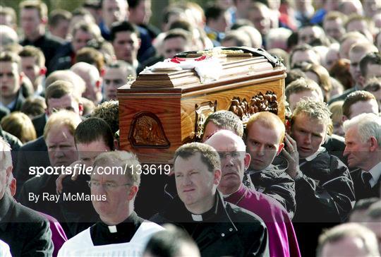
<path id="1" fill-rule="evenodd" d="M 296 209 L 295 182 L 282 167 L 272 165 L 284 149 L 285 130 L 282 120 L 271 112 L 250 117 L 245 141 L 251 159 L 243 183 L 279 201 L 292 218 Z"/>

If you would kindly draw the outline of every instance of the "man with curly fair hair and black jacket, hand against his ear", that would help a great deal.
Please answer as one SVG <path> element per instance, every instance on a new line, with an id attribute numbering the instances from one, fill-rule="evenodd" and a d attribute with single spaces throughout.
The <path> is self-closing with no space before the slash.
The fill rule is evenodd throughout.
<path id="1" fill-rule="evenodd" d="M 322 148 L 332 122 L 329 116 L 324 102 L 301 100 L 291 119 L 291 136 L 285 138 L 287 153 L 299 160 L 290 176 L 295 180 L 293 222 L 302 256 L 313 256 L 322 229 L 344 222 L 355 199 L 349 169 Z"/>

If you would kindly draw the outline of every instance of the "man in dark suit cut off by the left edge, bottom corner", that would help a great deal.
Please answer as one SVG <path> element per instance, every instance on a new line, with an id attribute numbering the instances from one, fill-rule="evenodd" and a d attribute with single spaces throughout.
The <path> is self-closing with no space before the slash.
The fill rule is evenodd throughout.
<path id="1" fill-rule="evenodd" d="M 0 239 L 9 245 L 12 256 L 52 256 L 49 222 L 13 201 L 7 186 L 11 172 L 11 148 L 0 138 Z"/>

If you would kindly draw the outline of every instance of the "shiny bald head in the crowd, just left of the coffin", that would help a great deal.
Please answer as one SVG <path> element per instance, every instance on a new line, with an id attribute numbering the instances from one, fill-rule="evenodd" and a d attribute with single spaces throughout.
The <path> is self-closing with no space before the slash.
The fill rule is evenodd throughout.
<path id="1" fill-rule="evenodd" d="M 99 76 L 97 68 L 85 62 L 78 62 L 71 66 L 70 70 L 85 80 L 86 90 L 82 96 L 99 104 L 102 101 L 102 77 Z"/>

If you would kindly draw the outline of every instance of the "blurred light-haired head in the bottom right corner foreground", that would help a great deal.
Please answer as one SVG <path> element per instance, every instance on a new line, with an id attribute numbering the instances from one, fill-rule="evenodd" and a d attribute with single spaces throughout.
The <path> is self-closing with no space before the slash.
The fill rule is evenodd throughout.
<path id="1" fill-rule="evenodd" d="M 317 257 L 380 256 L 375 234 L 356 223 L 346 223 L 327 230 L 319 237 Z"/>

